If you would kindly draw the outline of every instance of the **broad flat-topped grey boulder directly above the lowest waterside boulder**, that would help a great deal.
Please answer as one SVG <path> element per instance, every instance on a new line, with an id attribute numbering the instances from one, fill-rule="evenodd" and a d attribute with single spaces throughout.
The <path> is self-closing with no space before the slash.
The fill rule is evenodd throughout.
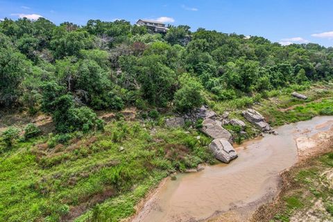
<path id="1" fill-rule="evenodd" d="M 214 139 L 223 138 L 232 142 L 231 133 L 229 133 L 228 130 L 225 130 L 225 128 L 213 119 L 205 119 L 203 121 L 203 128 L 201 128 L 201 131 Z"/>

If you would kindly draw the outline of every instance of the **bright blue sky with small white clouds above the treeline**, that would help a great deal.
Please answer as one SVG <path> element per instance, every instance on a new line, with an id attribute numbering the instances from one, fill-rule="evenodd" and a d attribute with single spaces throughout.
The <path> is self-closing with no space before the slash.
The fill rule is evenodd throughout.
<path id="1" fill-rule="evenodd" d="M 333 46 L 333 0 L 0 0 L 0 19 L 45 17 L 56 24 L 160 19 L 223 33 L 258 35 L 272 42 Z"/>

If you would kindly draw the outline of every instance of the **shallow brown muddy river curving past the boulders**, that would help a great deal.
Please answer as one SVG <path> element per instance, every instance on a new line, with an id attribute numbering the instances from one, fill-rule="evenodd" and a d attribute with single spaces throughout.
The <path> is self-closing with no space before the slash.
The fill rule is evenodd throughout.
<path id="1" fill-rule="evenodd" d="M 296 140 L 329 130 L 333 117 L 315 117 L 276 128 L 279 135 L 253 139 L 238 146 L 239 157 L 230 164 L 206 166 L 198 173 L 180 173 L 160 186 L 135 222 L 246 221 L 256 207 L 273 200 L 279 173 L 298 160 Z M 304 146 L 304 139 L 302 146 Z M 312 144 L 315 146 L 316 144 Z"/>

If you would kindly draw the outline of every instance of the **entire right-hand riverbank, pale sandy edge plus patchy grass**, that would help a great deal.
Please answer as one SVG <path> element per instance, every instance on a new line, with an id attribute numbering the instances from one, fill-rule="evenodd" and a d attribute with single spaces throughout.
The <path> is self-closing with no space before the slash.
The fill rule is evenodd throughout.
<path id="1" fill-rule="evenodd" d="M 333 221 L 332 121 L 319 124 L 316 128 L 326 129 L 312 135 L 309 134 L 309 130 L 305 130 L 300 132 L 301 137 L 296 138 L 298 162 L 280 173 L 279 192 L 273 201 L 269 203 L 263 201 L 263 205 L 253 203 L 233 209 L 218 216 L 212 216 L 207 221 Z"/>

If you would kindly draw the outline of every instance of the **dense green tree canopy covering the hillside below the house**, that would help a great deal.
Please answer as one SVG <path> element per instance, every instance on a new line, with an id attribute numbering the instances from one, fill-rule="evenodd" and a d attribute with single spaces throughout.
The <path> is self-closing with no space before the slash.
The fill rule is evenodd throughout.
<path id="1" fill-rule="evenodd" d="M 161 35 L 124 20 L 0 22 L 1 108 L 55 119 L 66 113 L 59 121 L 73 128 L 83 128 L 75 120 L 80 114 L 91 115 L 86 106 L 175 105 L 187 112 L 203 103 L 203 92 L 226 100 L 332 76 L 333 49 L 312 43 L 281 46 L 189 26 L 169 26 Z"/>

